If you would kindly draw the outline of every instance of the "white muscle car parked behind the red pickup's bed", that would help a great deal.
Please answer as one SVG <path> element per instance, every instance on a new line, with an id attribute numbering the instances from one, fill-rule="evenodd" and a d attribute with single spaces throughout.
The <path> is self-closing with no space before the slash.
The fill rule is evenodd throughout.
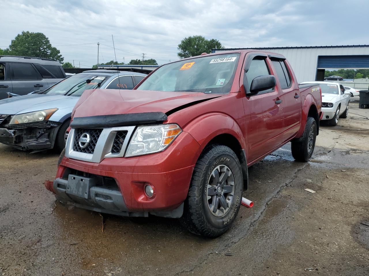
<path id="1" fill-rule="evenodd" d="M 338 118 L 347 118 L 350 92 L 342 84 L 328 81 L 306 81 L 301 84 L 319 84 L 322 92 L 322 120 L 337 125 Z"/>

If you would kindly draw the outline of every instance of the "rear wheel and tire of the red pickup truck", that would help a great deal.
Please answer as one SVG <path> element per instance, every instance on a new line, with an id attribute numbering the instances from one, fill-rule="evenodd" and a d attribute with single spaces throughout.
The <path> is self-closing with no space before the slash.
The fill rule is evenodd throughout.
<path id="1" fill-rule="evenodd" d="M 307 162 L 313 155 L 317 138 L 317 123 L 314 118 L 308 117 L 303 137 L 291 142 L 292 156 L 296 161 Z"/>

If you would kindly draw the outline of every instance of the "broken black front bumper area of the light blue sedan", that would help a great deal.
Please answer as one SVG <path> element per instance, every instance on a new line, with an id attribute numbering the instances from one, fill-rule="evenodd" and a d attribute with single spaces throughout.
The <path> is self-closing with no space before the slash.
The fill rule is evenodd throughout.
<path id="1" fill-rule="evenodd" d="M 54 147 L 60 125 L 55 121 L 3 125 L 0 126 L 0 143 L 23 151 L 50 149 Z"/>

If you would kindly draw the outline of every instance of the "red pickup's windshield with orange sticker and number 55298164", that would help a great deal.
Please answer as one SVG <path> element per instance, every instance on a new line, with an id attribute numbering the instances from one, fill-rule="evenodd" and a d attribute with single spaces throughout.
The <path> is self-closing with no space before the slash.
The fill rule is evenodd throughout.
<path id="1" fill-rule="evenodd" d="M 197 57 L 163 65 L 137 88 L 151 91 L 229 93 L 238 53 Z"/>

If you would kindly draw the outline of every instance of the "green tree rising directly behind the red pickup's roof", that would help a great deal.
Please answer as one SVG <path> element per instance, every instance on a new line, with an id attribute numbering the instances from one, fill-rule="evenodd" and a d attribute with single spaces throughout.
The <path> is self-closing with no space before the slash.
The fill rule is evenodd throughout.
<path id="1" fill-rule="evenodd" d="M 224 46 L 217 39 L 207 40 L 202 35 L 189 36 L 181 40 L 178 44 L 180 58 L 199 56 L 202 53 L 211 53 L 211 49 L 222 49 Z"/>

